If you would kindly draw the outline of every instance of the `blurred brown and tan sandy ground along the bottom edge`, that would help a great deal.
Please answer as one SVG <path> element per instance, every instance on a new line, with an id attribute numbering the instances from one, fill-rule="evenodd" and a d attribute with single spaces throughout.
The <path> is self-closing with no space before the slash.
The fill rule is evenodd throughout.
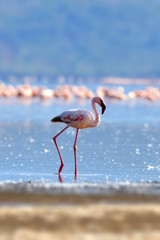
<path id="1" fill-rule="evenodd" d="M 157 196 L 1 192 L 0 203 L 1 240 L 160 239 Z"/>

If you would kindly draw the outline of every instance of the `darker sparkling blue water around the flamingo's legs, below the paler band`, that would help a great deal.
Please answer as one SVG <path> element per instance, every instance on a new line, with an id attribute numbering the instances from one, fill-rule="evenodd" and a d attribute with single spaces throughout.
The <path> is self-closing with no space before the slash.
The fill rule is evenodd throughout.
<path id="1" fill-rule="evenodd" d="M 52 137 L 61 124 L 1 124 L 1 181 L 57 181 L 60 161 Z M 77 142 L 78 182 L 159 181 L 159 126 L 110 124 L 81 130 Z M 7 133 L 7 134 L 6 134 Z M 70 128 L 57 142 L 64 160 L 62 177 L 74 180 Z"/>

